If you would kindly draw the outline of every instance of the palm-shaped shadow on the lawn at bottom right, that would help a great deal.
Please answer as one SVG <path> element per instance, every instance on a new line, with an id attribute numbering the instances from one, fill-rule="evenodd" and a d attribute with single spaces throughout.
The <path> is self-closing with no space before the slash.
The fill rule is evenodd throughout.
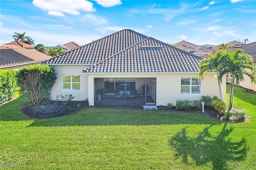
<path id="1" fill-rule="evenodd" d="M 169 143 L 176 149 L 176 158 L 182 157 L 184 163 L 188 163 L 189 157 L 192 158 L 198 166 L 212 162 L 213 169 L 228 169 L 227 161 L 241 161 L 246 158 L 246 141 L 243 138 L 239 142 L 232 142 L 228 138 L 233 128 L 226 129 L 227 123 L 224 123 L 222 131 L 217 137 L 209 133 L 209 127 L 206 127 L 198 137 L 189 137 L 186 128 L 178 132 L 169 140 Z"/>

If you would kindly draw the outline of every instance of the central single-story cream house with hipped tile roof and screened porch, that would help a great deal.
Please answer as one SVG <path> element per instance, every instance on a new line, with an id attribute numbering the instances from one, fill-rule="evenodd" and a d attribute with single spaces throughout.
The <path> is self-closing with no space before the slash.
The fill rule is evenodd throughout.
<path id="1" fill-rule="evenodd" d="M 89 105 L 157 105 L 219 96 L 215 73 L 198 79 L 201 60 L 152 37 L 124 29 L 53 57 L 58 79 L 52 89 Z M 225 78 L 223 82 L 225 81 Z M 225 100 L 226 84 L 222 85 Z M 101 96 L 98 96 L 101 95 Z"/>

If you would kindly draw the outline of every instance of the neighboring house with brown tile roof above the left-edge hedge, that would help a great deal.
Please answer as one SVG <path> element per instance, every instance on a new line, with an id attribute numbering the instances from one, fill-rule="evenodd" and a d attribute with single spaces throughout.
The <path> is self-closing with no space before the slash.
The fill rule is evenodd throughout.
<path id="1" fill-rule="evenodd" d="M 0 45 L 0 69 L 18 70 L 31 64 L 40 65 L 42 61 L 50 59 L 35 49 L 25 49 L 16 45 Z"/>

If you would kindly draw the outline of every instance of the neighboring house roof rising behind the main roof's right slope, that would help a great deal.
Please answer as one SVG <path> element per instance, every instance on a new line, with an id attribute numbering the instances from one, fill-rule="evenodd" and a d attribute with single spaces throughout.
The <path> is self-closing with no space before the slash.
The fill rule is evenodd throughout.
<path id="1" fill-rule="evenodd" d="M 215 53 L 216 51 L 213 49 L 206 48 L 204 46 L 198 46 L 192 43 L 189 43 L 187 41 L 180 41 L 178 43 L 174 44 L 179 49 L 182 49 L 184 51 L 193 53 L 194 55 L 198 55 L 202 58 L 209 58 L 209 53 Z"/>

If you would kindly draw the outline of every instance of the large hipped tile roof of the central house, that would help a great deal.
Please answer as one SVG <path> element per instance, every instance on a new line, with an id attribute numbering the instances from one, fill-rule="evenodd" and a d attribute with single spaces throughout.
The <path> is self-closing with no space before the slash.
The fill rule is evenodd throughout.
<path id="1" fill-rule="evenodd" d="M 58 55 L 44 64 L 94 64 L 92 72 L 198 72 L 202 59 L 172 45 L 124 29 Z"/>

